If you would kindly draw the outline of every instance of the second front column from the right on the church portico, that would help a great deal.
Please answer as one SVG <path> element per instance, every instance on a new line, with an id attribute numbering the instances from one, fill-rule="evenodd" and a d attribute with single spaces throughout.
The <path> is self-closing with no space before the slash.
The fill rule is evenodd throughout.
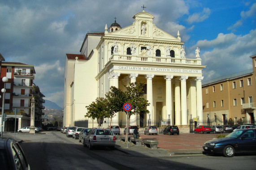
<path id="1" fill-rule="evenodd" d="M 181 76 L 181 124 L 187 125 L 187 86 L 188 76 Z"/>

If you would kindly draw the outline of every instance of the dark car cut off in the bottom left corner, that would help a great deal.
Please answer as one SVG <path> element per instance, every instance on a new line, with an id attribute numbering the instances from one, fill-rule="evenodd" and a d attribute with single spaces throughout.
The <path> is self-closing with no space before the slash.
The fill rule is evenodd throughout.
<path id="1" fill-rule="evenodd" d="M 22 147 L 12 138 L 0 138 L 0 169 L 30 170 Z"/>

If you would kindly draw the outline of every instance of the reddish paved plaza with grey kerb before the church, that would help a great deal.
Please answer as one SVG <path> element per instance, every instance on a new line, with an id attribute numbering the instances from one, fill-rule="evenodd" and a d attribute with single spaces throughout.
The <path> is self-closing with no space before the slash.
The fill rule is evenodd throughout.
<path id="1" fill-rule="evenodd" d="M 124 136 L 124 135 L 122 135 Z M 116 141 L 116 149 L 137 157 L 169 157 L 181 154 L 202 154 L 205 141 L 212 140 L 216 134 L 183 133 L 180 135 L 142 135 L 143 140 L 158 140 L 158 149 L 150 149 L 123 141 Z M 131 137 L 131 136 L 130 136 Z"/>

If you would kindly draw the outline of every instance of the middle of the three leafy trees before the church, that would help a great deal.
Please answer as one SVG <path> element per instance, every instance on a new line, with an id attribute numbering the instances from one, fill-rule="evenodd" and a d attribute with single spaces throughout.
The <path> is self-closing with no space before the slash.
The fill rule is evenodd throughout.
<path id="1" fill-rule="evenodd" d="M 105 94 L 107 99 L 107 107 L 108 107 L 108 118 L 110 118 L 110 126 L 112 123 L 112 118 L 115 113 L 122 111 L 123 105 L 126 100 L 125 93 L 114 86 L 110 87 L 110 91 Z"/>

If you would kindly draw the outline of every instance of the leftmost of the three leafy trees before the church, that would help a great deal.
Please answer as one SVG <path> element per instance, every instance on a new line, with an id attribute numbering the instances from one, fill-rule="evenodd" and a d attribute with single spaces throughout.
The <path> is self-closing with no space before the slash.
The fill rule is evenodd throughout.
<path id="1" fill-rule="evenodd" d="M 95 102 L 92 102 L 87 108 L 87 114 L 85 117 L 98 120 L 98 126 L 100 127 L 100 119 L 108 117 L 108 106 L 106 98 L 96 98 Z"/>

